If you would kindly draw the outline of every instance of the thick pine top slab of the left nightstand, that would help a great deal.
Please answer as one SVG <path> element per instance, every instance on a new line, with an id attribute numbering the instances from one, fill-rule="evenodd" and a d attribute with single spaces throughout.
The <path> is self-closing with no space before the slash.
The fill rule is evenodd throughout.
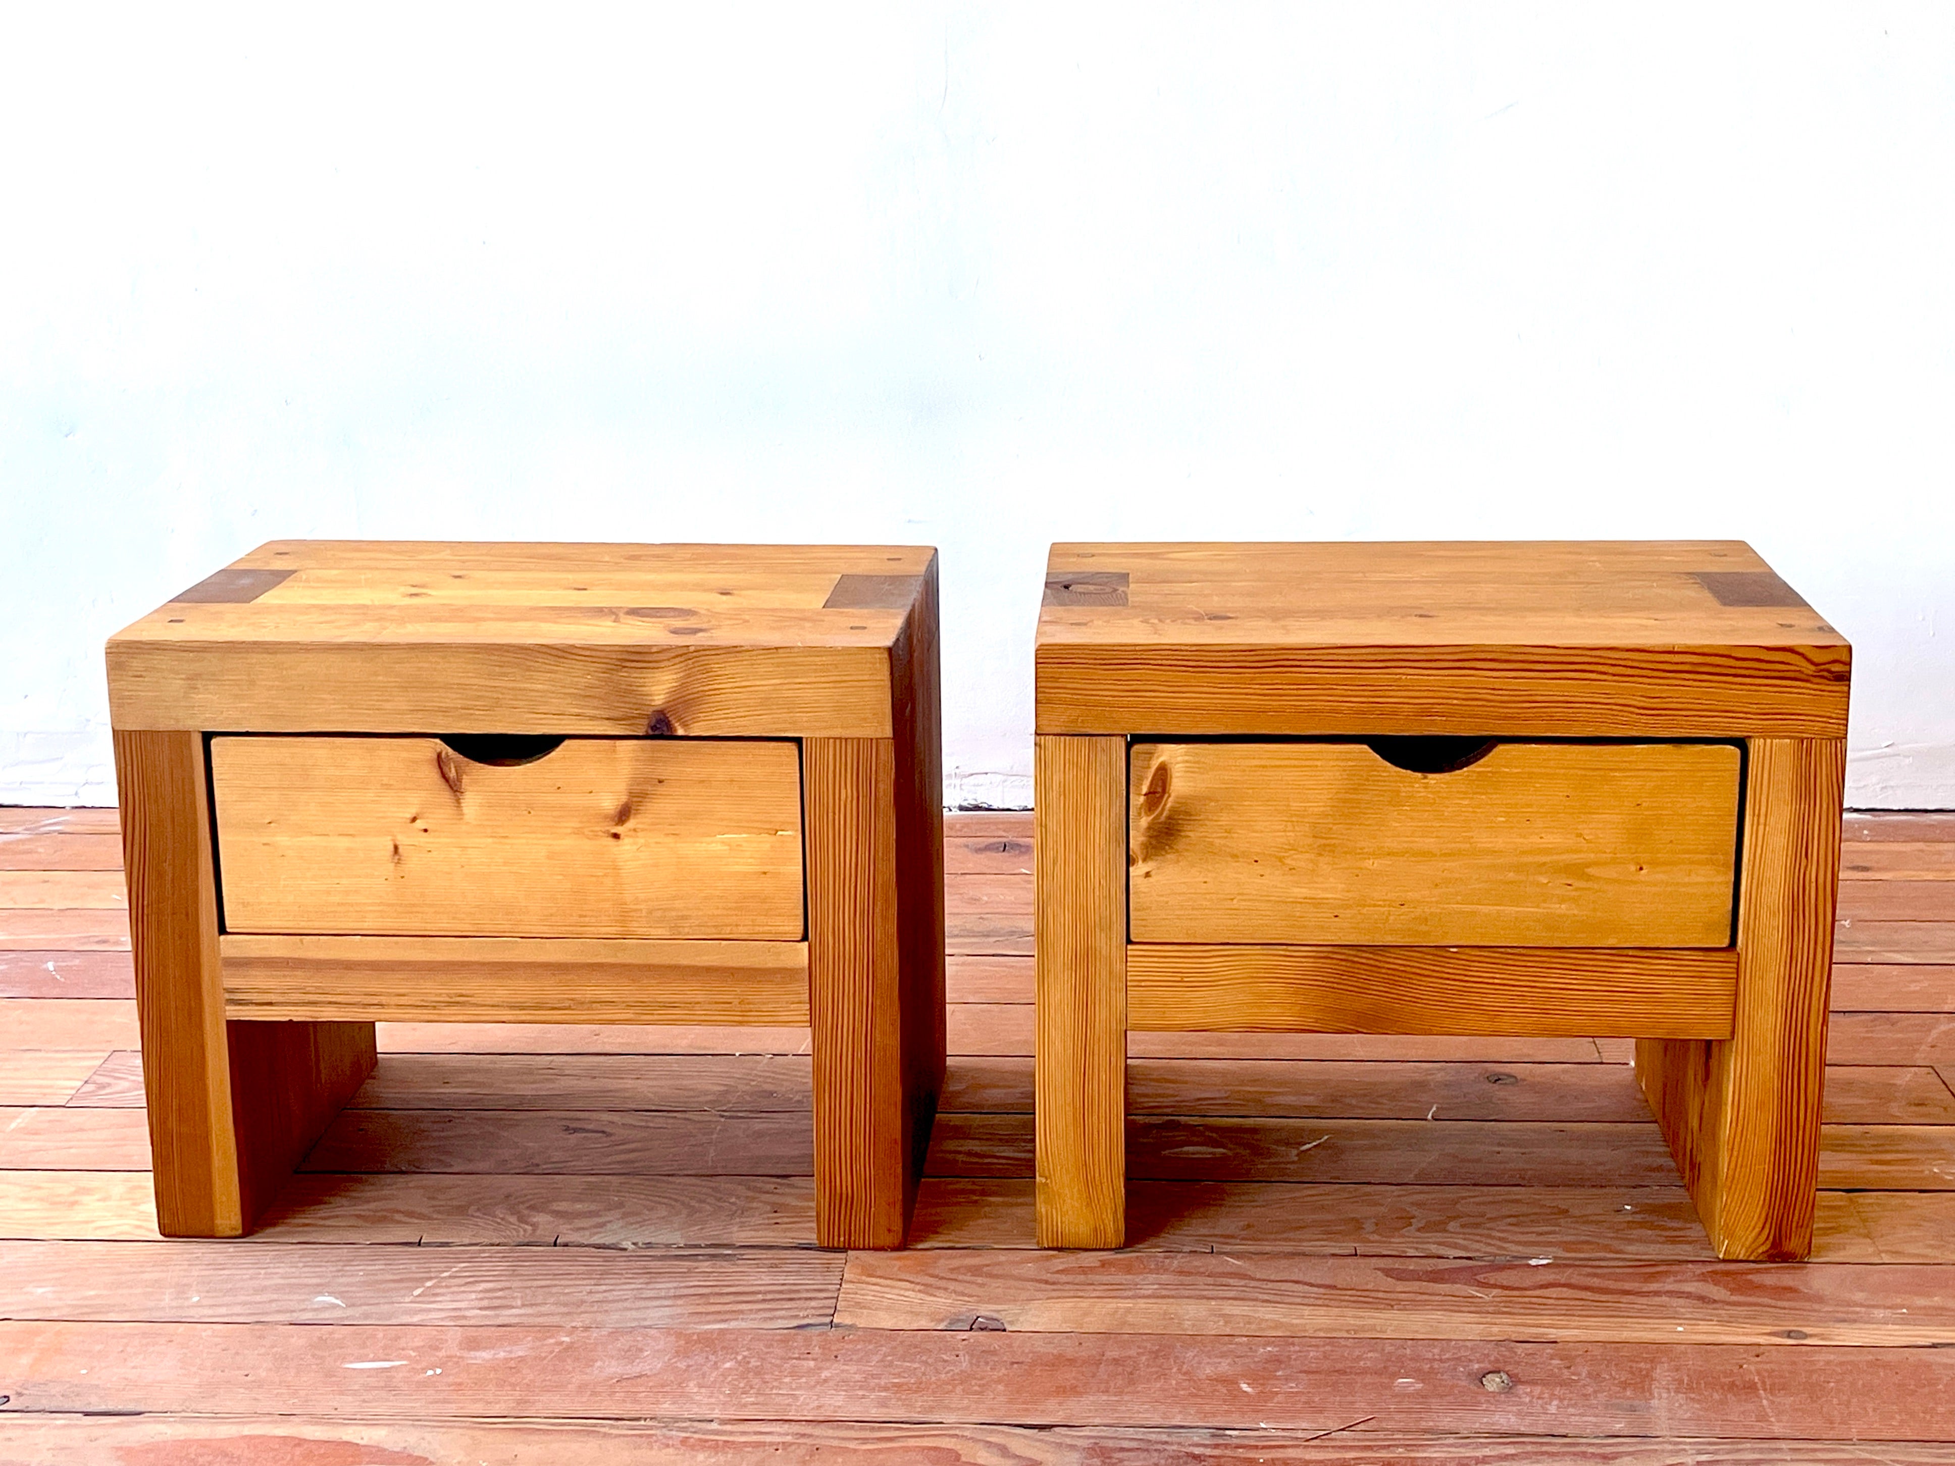
<path id="1" fill-rule="evenodd" d="M 117 631 L 123 729 L 888 737 L 915 545 L 274 541 Z"/>

